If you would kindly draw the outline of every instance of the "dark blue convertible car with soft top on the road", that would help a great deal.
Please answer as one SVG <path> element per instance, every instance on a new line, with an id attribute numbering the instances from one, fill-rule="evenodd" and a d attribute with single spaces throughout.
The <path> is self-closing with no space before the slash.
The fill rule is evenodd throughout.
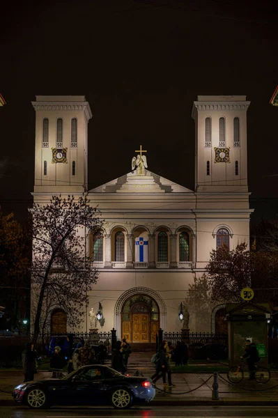
<path id="1" fill-rule="evenodd" d="M 35 409 L 101 403 L 125 409 L 134 403 L 150 402 L 155 397 L 155 387 L 149 378 L 123 376 L 110 367 L 93 364 L 63 379 L 22 383 L 15 387 L 13 397 L 17 403 Z"/>

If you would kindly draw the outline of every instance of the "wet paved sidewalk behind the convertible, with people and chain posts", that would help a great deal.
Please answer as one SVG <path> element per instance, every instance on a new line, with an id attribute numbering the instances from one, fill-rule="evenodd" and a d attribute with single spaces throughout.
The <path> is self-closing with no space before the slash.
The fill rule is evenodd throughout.
<path id="1" fill-rule="evenodd" d="M 144 373 L 144 376 L 150 373 Z M 52 373 L 39 372 L 35 380 L 50 378 Z M 266 385 L 246 380 L 243 384 L 230 385 L 224 373 L 220 373 L 218 379 L 219 401 L 212 400 L 213 377 L 211 373 L 173 373 L 172 380 L 176 387 L 164 393 L 157 391 L 155 399 L 150 405 L 278 405 L 278 377 L 272 378 Z M 0 406 L 15 406 L 11 396 L 13 388 L 23 381 L 22 371 L 0 371 Z M 206 383 L 204 383 L 206 382 Z M 199 389 L 190 393 L 196 387 Z M 158 380 L 157 387 L 162 389 L 162 380 Z M 265 390 L 267 389 L 267 390 Z M 1 392 L 4 391 L 4 392 Z M 250 392 L 249 392 L 250 391 Z M 261 391 L 261 392 L 260 392 Z"/>

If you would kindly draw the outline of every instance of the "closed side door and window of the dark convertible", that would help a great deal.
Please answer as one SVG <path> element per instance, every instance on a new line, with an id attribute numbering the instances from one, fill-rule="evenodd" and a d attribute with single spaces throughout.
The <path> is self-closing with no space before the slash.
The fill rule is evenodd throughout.
<path id="1" fill-rule="evenodd" d="M 98 372 L 100 374 L 98 375 Z M 72 381 L 72 399 L 75 403 L 88 405 L 102 403 L 106 392 L 105 379 L 98 366 L 88 366 Z"/>

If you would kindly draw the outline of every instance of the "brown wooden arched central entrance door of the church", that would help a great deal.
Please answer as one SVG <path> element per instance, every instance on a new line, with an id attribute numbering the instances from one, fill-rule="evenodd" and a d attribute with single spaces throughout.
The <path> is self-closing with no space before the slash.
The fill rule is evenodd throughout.
<path id="1" fill-rule="evenodd" d="M 122 309 L 122 338 L 132 343 L 155 343 L 160 327 L 157 303 L 147 295 L 134 295 Z"/>

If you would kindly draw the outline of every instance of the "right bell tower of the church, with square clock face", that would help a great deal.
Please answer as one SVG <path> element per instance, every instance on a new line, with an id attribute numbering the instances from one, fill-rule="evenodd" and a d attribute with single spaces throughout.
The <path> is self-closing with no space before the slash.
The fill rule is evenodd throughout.
<path id="1" fill-rule="evenodd" d="M 246 96 L 199 95 L 195 121 L 195 191 L 248 192 Z"/>

